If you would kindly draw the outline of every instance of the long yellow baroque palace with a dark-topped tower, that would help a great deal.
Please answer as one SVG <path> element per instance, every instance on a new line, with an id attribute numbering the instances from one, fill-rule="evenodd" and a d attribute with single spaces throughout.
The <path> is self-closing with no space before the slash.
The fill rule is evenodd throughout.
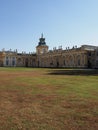
<path id="1" fill-rule="evenodd" d="M 82 45 L 65 50 L 60 47 L 48 50 L 43 34 L 39 39 L 35 54 L 18 53 L 16 51 L 0 52 L 1 67 L 67 67 L 98 68 L 98 47 Z"/>

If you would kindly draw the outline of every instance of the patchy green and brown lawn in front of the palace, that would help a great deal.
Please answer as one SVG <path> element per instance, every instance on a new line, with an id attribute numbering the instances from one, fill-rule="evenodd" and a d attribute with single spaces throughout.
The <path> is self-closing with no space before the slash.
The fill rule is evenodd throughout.
<path id="1" fill-rule="evenodd" d="M 98 130 L 98 70 L 0 68 L 0 130 Z"/>

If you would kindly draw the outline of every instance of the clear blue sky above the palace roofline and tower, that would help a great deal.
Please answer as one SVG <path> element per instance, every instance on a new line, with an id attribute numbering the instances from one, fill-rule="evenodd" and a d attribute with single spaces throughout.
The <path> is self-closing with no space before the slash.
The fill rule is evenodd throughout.
<path id="1" fill-rule="evenodd" d="M 0 50 L 98 46 L 98 0 L 0 0 Z"/>

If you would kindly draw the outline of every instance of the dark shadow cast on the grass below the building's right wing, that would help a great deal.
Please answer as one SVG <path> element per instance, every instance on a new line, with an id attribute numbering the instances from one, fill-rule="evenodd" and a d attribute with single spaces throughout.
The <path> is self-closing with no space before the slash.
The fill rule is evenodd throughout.
<path id="1" fill-rule="evenodd" d="M 96 76 L 98 75 L 97 69 L 54 69 L 48 73 L 50 75 L 83 75 L 83 76 Z"/>

